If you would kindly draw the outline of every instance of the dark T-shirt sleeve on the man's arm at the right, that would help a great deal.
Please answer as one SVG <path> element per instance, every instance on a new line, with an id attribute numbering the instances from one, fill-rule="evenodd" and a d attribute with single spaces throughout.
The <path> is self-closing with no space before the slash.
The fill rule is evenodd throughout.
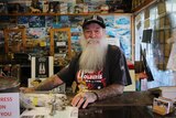
<path id="1" fill-rule="evenodd" d="M 119 47 L 112 50 L 109 65 L 110 83 L 117 83 L 124 86 L 132 84 L 125 56 Z"/>

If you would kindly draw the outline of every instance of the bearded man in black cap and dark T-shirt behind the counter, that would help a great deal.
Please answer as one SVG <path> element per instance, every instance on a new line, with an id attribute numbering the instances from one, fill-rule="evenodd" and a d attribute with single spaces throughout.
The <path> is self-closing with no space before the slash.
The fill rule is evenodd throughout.
<path id="1" fill-rule="evenodd" d="M 50 90 L 63 83 L 72 85 L 76 82 L 78 94 L 72 105 L 78 108 L 122 94 L 124 86 L 131 84 L 131 78 L 122 51 L 107 43 L 103 19 L 99 15 L 88 17 L 82 23 L 82 30 L 81 54 L 37 87 L 21 89 L 25 93 Z"/>

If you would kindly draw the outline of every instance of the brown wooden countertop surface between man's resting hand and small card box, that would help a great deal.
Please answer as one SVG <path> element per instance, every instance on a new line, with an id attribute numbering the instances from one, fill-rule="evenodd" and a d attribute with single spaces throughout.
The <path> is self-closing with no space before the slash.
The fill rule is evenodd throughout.
<path id="1" fill-rule="evenodd" d="M 91 104 L 90 107 L 150 106 L 153 97 L 148 92 L 124 92 L 122 95 Z"/>

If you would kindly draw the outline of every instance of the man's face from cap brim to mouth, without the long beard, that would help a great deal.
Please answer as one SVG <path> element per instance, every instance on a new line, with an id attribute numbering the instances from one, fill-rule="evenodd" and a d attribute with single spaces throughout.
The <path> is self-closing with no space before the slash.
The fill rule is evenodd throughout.
<path id="1" fill-rule="evenodd" d="M 84 29 L 84 35 L 86 40 L 90 40 L 88 41 L 88 44 L 92 44 L 92 43 L 100 43 L 100 40 L 105 35 L 105 29 L 102 29 L 99 24 L 97 23 L 90 23 L 89 25 L 87 25 Z M 96 40 L 92 41 L 91 39 Z"/>

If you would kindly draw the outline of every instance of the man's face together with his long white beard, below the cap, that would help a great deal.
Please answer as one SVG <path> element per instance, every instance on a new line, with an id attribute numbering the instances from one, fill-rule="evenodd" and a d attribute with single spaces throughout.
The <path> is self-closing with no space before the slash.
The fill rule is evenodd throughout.
<path id="1" fill-rule="evenodd" d="M 82 47 L 79 61 L 80 69 L 102 69 L 108 47 L 105 31 L 97 23 L 91 23 L 84 29 L 84 37 L 80 40 Z"/>

